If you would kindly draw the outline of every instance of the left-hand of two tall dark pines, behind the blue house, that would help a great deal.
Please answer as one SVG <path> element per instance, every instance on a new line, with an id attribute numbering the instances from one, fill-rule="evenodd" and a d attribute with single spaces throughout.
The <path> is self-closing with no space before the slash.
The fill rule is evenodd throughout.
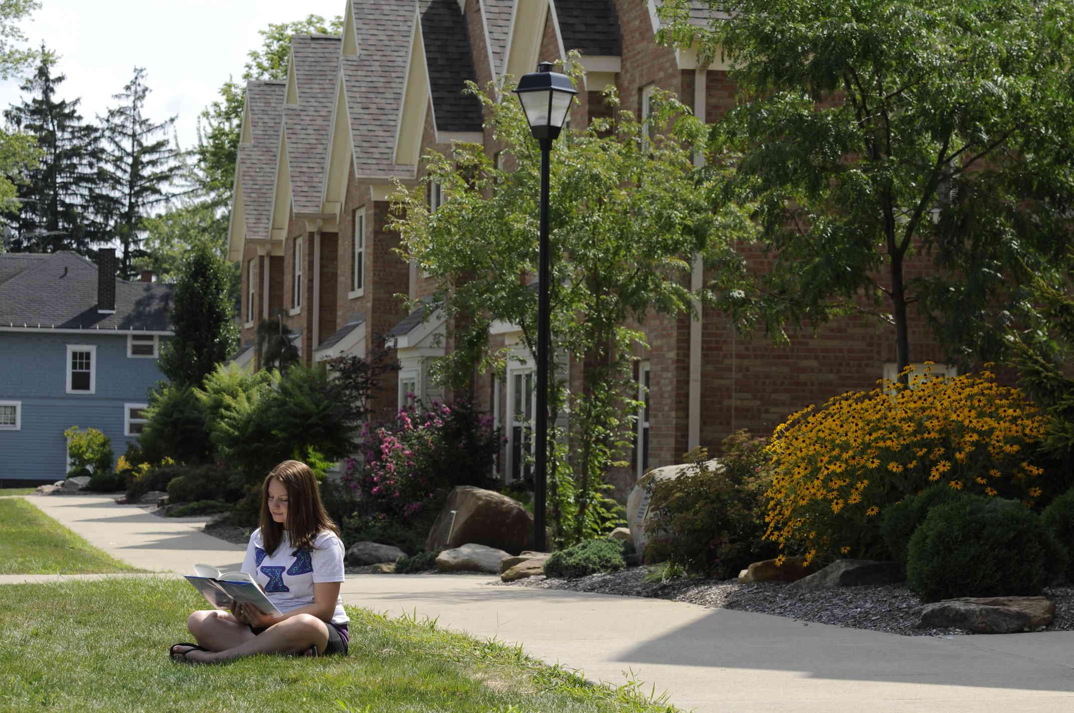
<path id="1" fill-rule="evenodd" d="M 10 247 L 13 251 L 89 254 L 93 244 L 104 239 L 88 216 L 98 180 L 99 131 L 83 122 L 81 99 L 57 98 L 57 88 L 66 79 L 53 73 L 58 57 L 42 44 L 40 58 L 37 71 L 21 86 L 31 98 L 4 112 L 8 122 L 33 136 L 42 152 L 40 163 L 18 185 L 21 206 L 10 219 Z"/>

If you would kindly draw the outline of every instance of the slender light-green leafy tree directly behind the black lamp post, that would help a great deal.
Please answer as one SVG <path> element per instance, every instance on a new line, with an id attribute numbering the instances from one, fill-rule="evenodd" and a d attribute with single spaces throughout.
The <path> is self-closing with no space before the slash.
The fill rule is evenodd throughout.
<path id="1" fill-rule="evenodd" d="M 574 66 L 568 72 L 577 78 Z M 425 209 L 423 191 L 401 188 L 393 198 L 391 227 L 402 235 L 403 257 L 437 282 L 435 300 L 453 345 L 438 376 L 455 390 L 477 372 L 506 367 L 504 353 L 489 347 L 494 320 L 520 325 L 536 361 L 537 295 L 519 276 L 537 274 L 540 149 L 518 101 L 497 102 L 494 89 L 467 91 L 482 102 L 517 170 L 496 169 L 479 145 L 455 144 L 450 159 L 435 152 L 423 159 L 425 183 L 439 181 L 446 195 L 439 209 Z M 618 110 L 614 91 L 605 100 Z M 605 477 L 623 465 L 630 446 L 633 417 L 624 413 L 638 406 L 632 354 L 635 345 L 645 346 L 630 325 L 654 311 L 691 312 L 692 300 L 706 297 L 688 288 L 693 257 L 715 258 L 744 222 L 734 212 L 709 209 L 711 181 L 693 164 L 705 127 L 670 96 L 657 103 L 653 121 L 676 117 L 668 135 L 642 142 L 648 127 L 618 112 L 553 144 L 549 287 L 552 359 L 561 363 L 551 370 L 560 376 L 551 379 L 550 423 L 568 406 L 557 354 L 585 367 L 583 390 L 569 396 L 574 459 L 550 439 L 550 514 L 561 543 L 615 519 Z M 558 437 L 565 442 L 567 434 Z"/>

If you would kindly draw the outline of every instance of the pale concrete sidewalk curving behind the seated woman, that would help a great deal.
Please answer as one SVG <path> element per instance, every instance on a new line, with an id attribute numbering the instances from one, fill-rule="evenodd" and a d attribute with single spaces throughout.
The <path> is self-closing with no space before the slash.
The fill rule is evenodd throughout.
<path id="1" fill-rule="evenodd" d="M 243 548 L 99 496 L 31 503 L 140 567 L 227 565 Z M 186 549 L 189 547 L 190 549 Z M 633 674 L 698 712 L 1050 713 L 1074 705 L 1074 632 L 899 637 L 694 605 L 526 587 L 481 576 L 362 576 L 344 601 L 507 642 L 586 678 Z"/>

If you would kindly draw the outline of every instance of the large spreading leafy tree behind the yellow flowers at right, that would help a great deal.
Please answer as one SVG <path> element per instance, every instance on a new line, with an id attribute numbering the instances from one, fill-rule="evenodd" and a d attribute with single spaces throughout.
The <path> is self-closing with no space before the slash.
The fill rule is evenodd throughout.
<path id="1" fill-rule="evenodd" d="M 706 4 L 734 19 L 701 29 L 668 0 L 657 40 L 732 67 L 717 204 L 750 206 L 769 254 L 764 272 L 725 265 L 721 306 L 777 335 L 871 315 L 900 370 L 913 306 L 952 358 L 995 354 L 1026 279 L 1057 279 L 1071 237 L 1074 3 Z"/>

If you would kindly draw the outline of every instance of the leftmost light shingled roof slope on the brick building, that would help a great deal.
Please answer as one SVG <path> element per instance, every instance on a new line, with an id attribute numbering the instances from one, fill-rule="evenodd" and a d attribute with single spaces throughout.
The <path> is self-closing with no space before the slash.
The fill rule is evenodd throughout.
<path id="1" fill-rule="evenodd" d="M 256 238 L 267 238 L 272 222 L 280 110 L 286 92 L 287 84 L 284 82 L 249 82 L 246 85 L 246 108 L 250 113 L 253 135 L 250 143 L 238 146 L 238 170 L 246 232 Z"/>

